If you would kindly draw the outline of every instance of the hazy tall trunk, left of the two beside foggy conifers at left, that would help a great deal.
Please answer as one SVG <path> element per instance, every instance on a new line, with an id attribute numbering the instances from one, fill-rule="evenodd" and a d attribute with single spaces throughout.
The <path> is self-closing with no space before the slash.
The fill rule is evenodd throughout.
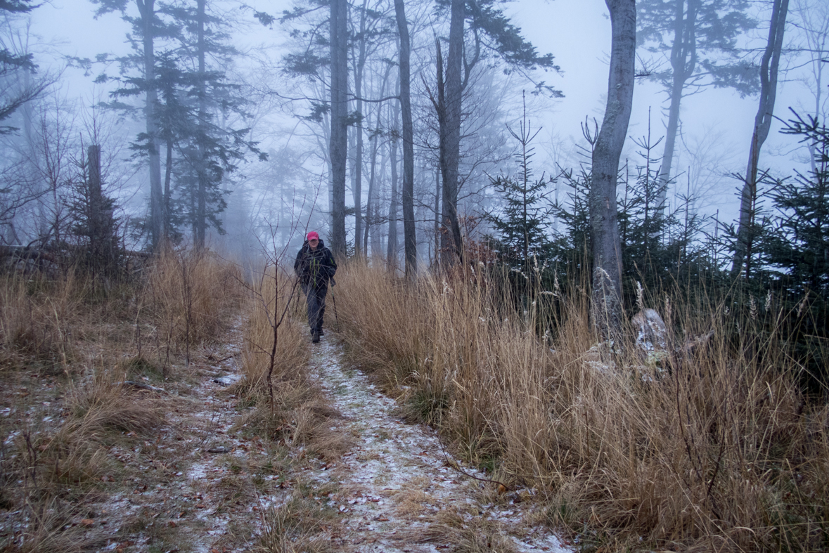
<path id="1" fill-rule="evenodd" d="M 144 116 L 147 118 L 147 147 L 150 170 L 150 242 L 153 250 L 158 248 L 162 239 L 163 204 L 161 190 L 161 153 L 158 150 L 158 126 L 155 110 L 158 92 L 155 89 L 155 52 L 153 50 L 153 19 L 155 18 L 155 0 L 136 0 L 141 14 L 144 47 L 144 79 L 147 82 L 147 99 Z"/>

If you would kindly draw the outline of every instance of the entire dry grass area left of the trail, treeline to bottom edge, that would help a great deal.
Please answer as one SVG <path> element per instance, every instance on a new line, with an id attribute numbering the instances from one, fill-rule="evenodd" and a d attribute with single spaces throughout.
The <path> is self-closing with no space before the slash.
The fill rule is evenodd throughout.
<path id="1" fill-rule="evenodd" d="M 239 274 L 180 253 L 105 289 L 71 271 L 0 277 L 0 551 L 104 546 L 111 532 L 79 522 L 133 470 L 112 448 L 143 443 L 169 401 L 124 380 L 221 339 Z"/>

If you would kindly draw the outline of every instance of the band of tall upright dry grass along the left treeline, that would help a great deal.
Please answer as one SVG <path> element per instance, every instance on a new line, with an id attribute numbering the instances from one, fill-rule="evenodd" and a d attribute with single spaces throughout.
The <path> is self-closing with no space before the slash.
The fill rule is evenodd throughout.
<path id="1" fill-rule="evenodd" d="M 88 343 L 102 339 L 117 339 L 116 349 L 138 348 L 148 358 L 146 350 L 154 349 L 158 366 L 166 368 L 171 352 L 221 338 L 226 314 L 242 297 L 240 275 L 239 267 L 209 253 L 174 251 L 109 291 L 74 270 L 54 278 L 2 275 L 0 370 L 62 373 L 84 360 Z M 107 335 L 106 325 L 128 329 L 127 321 L 132 331 Z"/>

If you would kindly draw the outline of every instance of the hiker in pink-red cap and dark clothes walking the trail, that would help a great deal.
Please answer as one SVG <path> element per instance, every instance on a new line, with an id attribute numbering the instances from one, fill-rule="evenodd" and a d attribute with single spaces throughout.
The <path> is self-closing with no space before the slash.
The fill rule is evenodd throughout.
<path id="1" fill-rule="evenodd" d="M 318 233 L 311 231 L 305 237 L 305 243 L 297 253 L 297 261 L 293 263 L 293 271 L 297 273 L 299 284 L 308 301 L 311 341 L 317 344 L 322 336 L 322 317 L 325 315 L 328 281 L 331 281 L 331 286 L 337 284 L 334 282 L 337 263 L 334 262 L 331 250 L 319 239 Z"/>

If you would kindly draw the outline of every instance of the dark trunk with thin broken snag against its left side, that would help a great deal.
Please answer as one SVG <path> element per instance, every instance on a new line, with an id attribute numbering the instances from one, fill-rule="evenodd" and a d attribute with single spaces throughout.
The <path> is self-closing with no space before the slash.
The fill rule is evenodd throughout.
<path id="1" fill-rule="evenodd" d="M 463 7 L 464 0 L 452 0 L 449 21 L 449 51 L 446 60 L 446 83 L 440 86 L 443 117 L 440 122 L 440 172 L 444 176 L 444 220 L 448 228 L 447 248 L 442 252 L 444 267 L 463 259 L 461 228 L 458 223 L 458 165 L 461 144 L 461 101 L 463 97 Z M 441 75 L 442 79 L 442 75 Z M 444 89 L 444 94 L 441 94 Z"/>

